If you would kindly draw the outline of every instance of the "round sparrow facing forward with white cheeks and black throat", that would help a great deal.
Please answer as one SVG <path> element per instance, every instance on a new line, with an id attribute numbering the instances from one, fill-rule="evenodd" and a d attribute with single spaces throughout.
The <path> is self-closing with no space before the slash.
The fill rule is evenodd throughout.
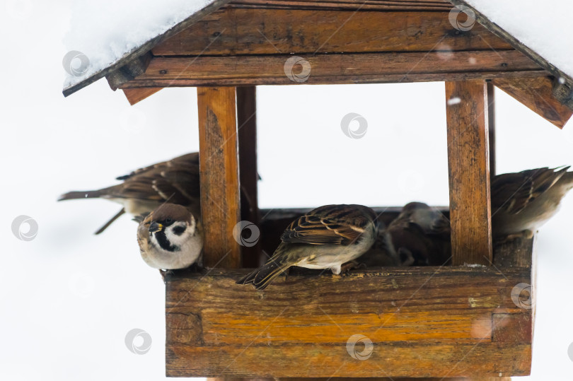
<path id="1" fill-rule="evenodd" d="M 185 269 L 202 253 L 203 230 L 185 206 L 163 204 L 141 220 L 137 243 L 141 257 L 154 269 Z"/>

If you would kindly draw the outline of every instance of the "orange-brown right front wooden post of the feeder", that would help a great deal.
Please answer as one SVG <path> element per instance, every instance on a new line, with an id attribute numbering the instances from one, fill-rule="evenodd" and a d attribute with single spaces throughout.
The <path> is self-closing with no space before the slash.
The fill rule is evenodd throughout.
<path id="1" fill-rule="evenodd" d="M 446 82 L 452 264 L 492 263 L 487 86 Z"/>

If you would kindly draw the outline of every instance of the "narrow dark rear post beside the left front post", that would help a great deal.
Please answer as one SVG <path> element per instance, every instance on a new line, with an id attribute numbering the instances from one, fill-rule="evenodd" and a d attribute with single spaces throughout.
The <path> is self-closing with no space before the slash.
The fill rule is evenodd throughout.
<path id="1" fill-rule="evenodd" d="M 237 124 L 241 179 L 241 220 L 259 224 L 257 200 L 257 98 L 255 86 L 237 88 Z M 250 231 L 254 234 L 253 231 Z M 253 237 L 254 239 L 254 237 Z M 256 238 L 257 239 L 257 238 Z M 254 242 L 254 241 L 253 241 Z M 242 246 L 244 267 L 260 265 L 260 244 Z"/>

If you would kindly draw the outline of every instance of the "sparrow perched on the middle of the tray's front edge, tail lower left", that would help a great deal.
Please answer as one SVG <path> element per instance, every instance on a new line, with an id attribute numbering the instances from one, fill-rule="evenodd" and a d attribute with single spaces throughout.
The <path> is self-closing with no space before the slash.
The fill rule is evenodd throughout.
<path id="1" fill-rule="evenodd" d="M 330 269 L 340 274 L 342 264 L 357 259 L 376 240 L 376 213 L 362 205 L 326 205 L 293 221 L 266 264 L 237 281 L 263 290 L 291 266 Z"/>

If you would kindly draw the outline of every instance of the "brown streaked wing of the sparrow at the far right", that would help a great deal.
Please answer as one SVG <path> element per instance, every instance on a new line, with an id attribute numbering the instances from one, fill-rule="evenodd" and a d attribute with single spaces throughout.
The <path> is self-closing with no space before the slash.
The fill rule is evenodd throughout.
<path id="1" fill-rule="evenodd" d="M 538 168 L 517 173 L 504 173 L 492 180 L 492 213 L 504 209 L 516 214 L 557 182 L 566 168 Z M 557 171 L 556 171 L 557 170 Z"/>

